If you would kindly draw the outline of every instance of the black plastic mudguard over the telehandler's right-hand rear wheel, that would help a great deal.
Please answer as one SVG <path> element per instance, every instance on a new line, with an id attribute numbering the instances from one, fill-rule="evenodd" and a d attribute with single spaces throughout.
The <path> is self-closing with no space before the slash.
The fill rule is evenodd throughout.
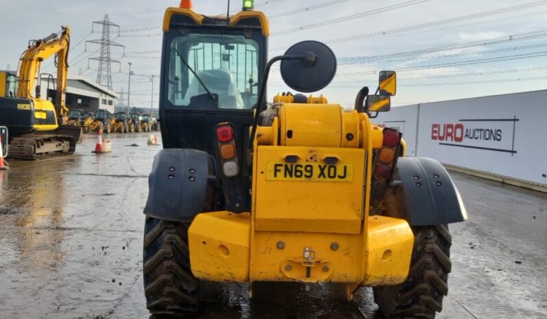
<path id="1" fill-rule="evenodd" d="M 461 196 L 446 168 L 435 159 L 400 157 L 393 183 L 400 212 L 410 225 L 444 225 L 467 220 Z"/>

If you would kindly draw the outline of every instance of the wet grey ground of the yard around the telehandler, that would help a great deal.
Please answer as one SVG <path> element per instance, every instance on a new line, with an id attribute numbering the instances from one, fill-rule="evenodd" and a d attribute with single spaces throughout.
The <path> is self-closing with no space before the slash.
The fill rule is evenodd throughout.
<path id="1" fill-rule="evenodd" d="M 0 171 L 0 318 L 148 318 L 143 206 L 161 146 L 112 134 L 113 151 Z M 156 133 L 159 138 L 159 134 Z M 161 143 L 161 140 L 159 141 Z M 437 318 L 547 318 L 547 194 L 452 173 L 470 220 L 451 225 L 450 292 Z M 383 318 L 365 288 L 210 284 L 197 318 Z"/>

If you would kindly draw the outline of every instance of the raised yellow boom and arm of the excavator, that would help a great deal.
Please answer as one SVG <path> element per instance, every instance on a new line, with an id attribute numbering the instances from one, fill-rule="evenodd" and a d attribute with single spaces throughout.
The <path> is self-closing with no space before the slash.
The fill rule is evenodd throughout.
<path id="1" fill-rule="evenodd" d="M 21 56 L 21 65 L 19 68 L 19 89 L 17 97 L 23 99 L 39 98 L 38 94 L 32 92 L 36 73 L 40 78 L 40 68 L 42 62 L 57 55 L 57 92 L 56 92 L 56 112 L 59 118 L 66 118 L 69 109 L 65 105 L 66 84 L 69 71 L 68 56 L 70 49 L 70 28 L 62 27 L 60 36 L 51 34 L 40 40 L 32 40 L 29 48 Z M 39 90 L 37 90 L 39 92 Z M 63 121 L 60 121 L 63 123 Z"/>

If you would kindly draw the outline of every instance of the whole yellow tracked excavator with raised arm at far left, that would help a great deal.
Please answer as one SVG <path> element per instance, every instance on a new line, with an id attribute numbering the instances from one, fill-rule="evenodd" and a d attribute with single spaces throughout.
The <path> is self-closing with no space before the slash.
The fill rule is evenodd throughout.
<path id="1" fill-rule="evenodd" d="M 82 140 L 82 127 L 66 125 L 65 105 L 70 29 L 31 40 L 21 55 L 19 71 L 0 71 L 0 126 L 10 131 L 10 157 L 45 159 L 74 153 Z M 57 66 L 54 103 L 40 97 L 42 62 L 55 56 Z M 35 86 L 35 81 L 38 84 Z M 34 91 L 34 92 L 33 92 Z"/>

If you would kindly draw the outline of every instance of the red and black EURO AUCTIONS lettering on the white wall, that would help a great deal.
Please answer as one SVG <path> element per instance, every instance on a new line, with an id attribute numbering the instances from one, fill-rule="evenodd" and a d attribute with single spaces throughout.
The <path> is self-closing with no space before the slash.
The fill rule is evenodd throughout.
<path id="1" fill-rule="evenodd" d="M 482 149 L 515 154 L 518 118 L 462 118 L 454 123 L 433 123 L 431 140 L 447 147 Z"/>

